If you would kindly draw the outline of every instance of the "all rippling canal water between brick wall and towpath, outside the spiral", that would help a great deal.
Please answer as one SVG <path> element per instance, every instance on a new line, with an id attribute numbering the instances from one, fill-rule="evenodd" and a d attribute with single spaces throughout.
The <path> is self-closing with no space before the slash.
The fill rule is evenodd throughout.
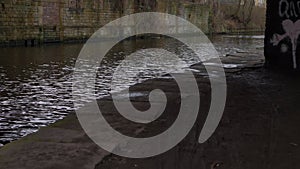
<path id="1" fill-rule="evenodd" d="M 225 57 L 236 52 L 262 52 L 263 38 L 218 35 L 211 37 L 211 40 L 220 56 Z M 82 47 L 83 44 L 49 44 L 42 47 L 0 48 L 0 147 L 36 132 L 40 127 L 54 123 L 74 111 L 71 80 Z M 149 54 L 147 48 L 176 49 L 176 53 L 182 55 L 188 65 L 199 62 L 190 57 L 191 51 L 169 38 L 123 41 L 107 54 L 99 67 L 97 97 L 109 95 L 113 72 L 127 55 L 138 49 L 142 49 L 140 55 L 143 52 Z M 160 53 L 153 53 L 151 57 L 159 55 Z M 118 90 L 168 73 L 149 65 L 147 59 L 149 57 L 139 60 L 137 76 L 119 84 Z M 152 59 L 151 64 L 155 64 L 155 59 Z M 171 69 L 169 72 L 176 72 L 182 69 L 182 65 L 171 62 L 168 68 Z M 81 97 L 82 103 L 88 102 L 89 97 Z"/>

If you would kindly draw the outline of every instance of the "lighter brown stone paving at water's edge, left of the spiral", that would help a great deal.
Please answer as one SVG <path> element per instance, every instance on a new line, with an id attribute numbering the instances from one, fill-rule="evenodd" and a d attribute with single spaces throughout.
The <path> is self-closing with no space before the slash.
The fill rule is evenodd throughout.
<path id="1" fill-rule="evenodd" d="M 76 116 L 71 114 L 38 133 L 3 147 L 0 168 L 89 169 L 106 155 L 107 152 L 88 139 Z"/>

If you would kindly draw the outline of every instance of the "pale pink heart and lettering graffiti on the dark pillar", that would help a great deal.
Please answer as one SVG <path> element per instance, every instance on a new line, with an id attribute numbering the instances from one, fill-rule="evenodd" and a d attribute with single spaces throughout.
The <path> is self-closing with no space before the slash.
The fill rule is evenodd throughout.
<path id="1" fill-rule="evenodd" d="M 300 1 L 288 1 L 280 0 L 279 1 L 279 16 L 285 18 L 282 21 L 281 25 L 284 30 L 284 34 L 275 33 L 271 39 L 271 43 L 274 46 L 277 46 L 285 38 L 289 38 L 292 43 L 292 57 L 293 57 L 293 67 L 297 68 L 296 60 L 296 50 L 298 45 L 298 37 L 300 35 L 300 20 L 293 22 L 289 18 L 298 18 L 300 16 Z M 287 46 L 283 44 L 281 46 L 281 52 L 286 52 Z"/>

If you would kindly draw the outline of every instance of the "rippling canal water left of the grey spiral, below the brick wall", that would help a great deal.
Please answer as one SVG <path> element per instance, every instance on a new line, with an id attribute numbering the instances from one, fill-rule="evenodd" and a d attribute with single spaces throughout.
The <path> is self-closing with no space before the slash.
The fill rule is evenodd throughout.
<path id="1" fill-rule="evenodd" d="M 72 109 L 69 74 L 81 46 L 0 49 L 0 143 L 32 133 Z"/>

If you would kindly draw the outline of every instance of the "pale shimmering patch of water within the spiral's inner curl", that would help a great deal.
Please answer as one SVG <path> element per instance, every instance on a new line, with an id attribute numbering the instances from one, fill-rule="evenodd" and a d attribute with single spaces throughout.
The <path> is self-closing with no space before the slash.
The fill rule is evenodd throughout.
<path id="1" fill-rule="evenodd" d="M 184 56 L 186 56 L 184 60 L 188 60 L 188 55 Z M 141 49 L 127 56 L 115 70 L 111 92 L 123 90 L 124 83 L 131 86 L 149 78 L 160 77 L 165 73 L 182 72 L 187 67 L 189 67 L 187 63 L 176 54 L 164 49 Z"/>

